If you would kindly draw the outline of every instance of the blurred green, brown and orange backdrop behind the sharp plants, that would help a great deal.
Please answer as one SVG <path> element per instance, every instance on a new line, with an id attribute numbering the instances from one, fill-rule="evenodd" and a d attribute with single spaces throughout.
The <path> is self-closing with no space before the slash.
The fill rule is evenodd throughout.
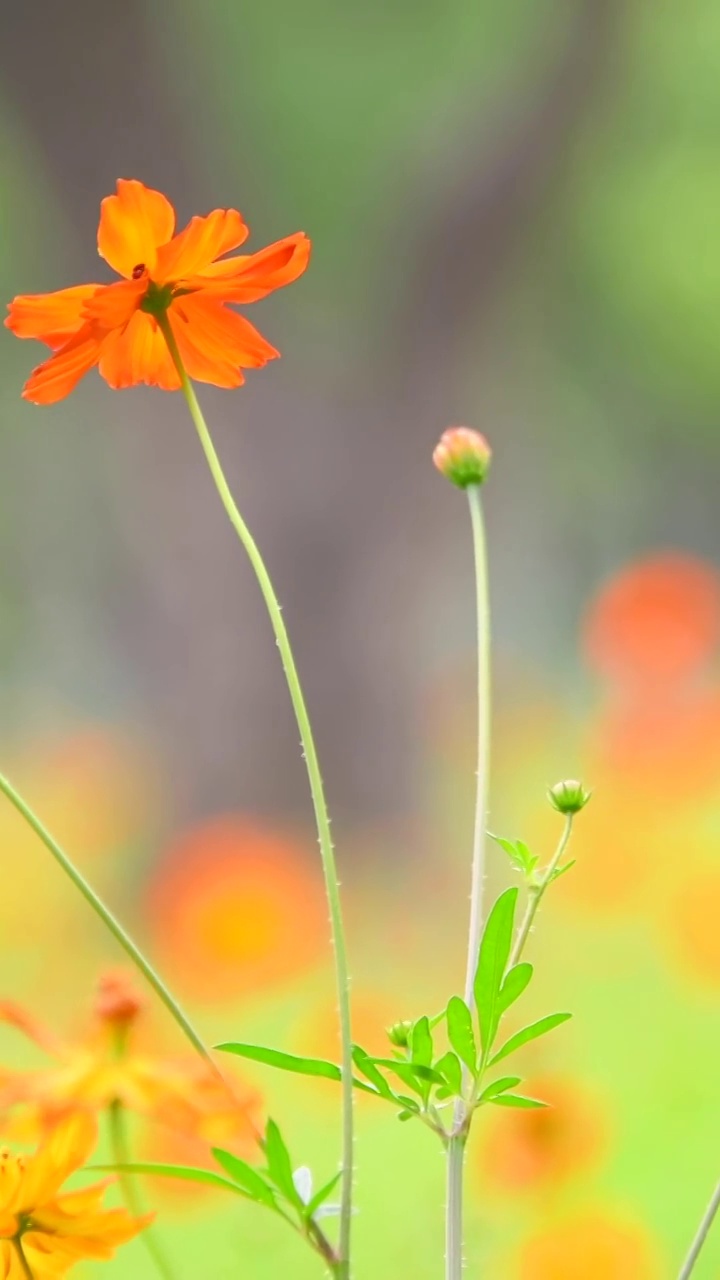
<path id="1" fill-rule="evenodd" d="M 202 403 L 314 712 L 368 1048 L 461 983 L 471 557 L 429 460 L 448 422 L 491 438 L 491 826 L 550 852 L 547 783 L 596 791 L 532 943 L 528 1014 L 577 1014 L 525 1051 L 553 1108 L 478 1125 L 468 1275 L 671 1280 L 720 1172 L 717 6 L 72 0 L 0 35 L 5 297 L 105 278 L 117 177 L 314 241 L 254 308 L 283 360 Z M 3 764 L 209 1038 L 332 1056 L 297 732 L 184 406 L 91 375 L 38 410 L 37 351 L 1 351 Z M 70 1034 L 117 952 L 0 832 L 3 993 Z M 10 1029 L 0 1055 L 37 1061 Z M 332 1085 L 246 1079 L 329 1176 Z M 439 1275 L 432 1137 L 370 1100 L 357 1157 L 357 1275 Z M 261 1211 L 152 1199 L 181 1280 L 319 1274 Z"/>

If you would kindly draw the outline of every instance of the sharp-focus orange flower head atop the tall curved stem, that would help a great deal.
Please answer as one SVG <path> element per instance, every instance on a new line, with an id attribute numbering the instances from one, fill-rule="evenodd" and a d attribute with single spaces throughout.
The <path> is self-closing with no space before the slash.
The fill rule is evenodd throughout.
<path id="1" fill-rule="evenodd" d="M 33 370 L 24 398 L 53 404 L 96 365 L 115 389 L 147 383 L 178 390 L 159 324 L 165 317 L 190 378 L 240 387 L 243 369 L 261 369 L 279 352 L 227 303 L 256 302 L 296 280 L 310 241 L 297 232 L 259 253 L 224 257 L 249 234 L 237 210 L 192 218 L 174 236 L 176 211 L 165 196 L 135 179 L 119 178 L 117 189 L 100 206 L 97 251 L 124 279 L 26 294 L 9 306 L 8 328 L 55 352 Z"/>

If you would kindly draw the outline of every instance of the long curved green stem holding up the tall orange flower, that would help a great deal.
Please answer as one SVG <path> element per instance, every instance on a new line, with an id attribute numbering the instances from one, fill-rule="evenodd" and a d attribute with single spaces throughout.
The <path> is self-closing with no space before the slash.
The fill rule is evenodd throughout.
<path id="1" fill-rule="evenodd" d="M 305 698 L 302 694 L 302 687 L 300 684 L 300 677 L 297 675 L 297 667 L 295 664 L 295 657 L 290 644 L 290 637 L 287 634 L 287 627 L 282 616 L 281 605 L 275 595 L 275 590 L 270 581 L 270 576 L 265 567 L 265 562 L 260 554 L 258 544 L 250 532 L 250 529 L 245 524 L 234 498 L 231 493 L 229 485 L 225 480 L 220 460 L 215 452 L 215 445 L 208 424 L 202 416 L 202 410 L 197 402 L 195 389 L 190 381 L 187 372 L 184 370 L 181 353 L 170 329 L 167 316 L 161 316 L 158 320 L 160 329 L 164 334 L 165 342 L 173 357 L 176 369 L 178 371 L 182 390 L 187 401 L 187 407 L 190 410 L 190 416 L 195 424 L 195 429 L 200 438 L 200 444 L 205 453 L 210 474 L 215 483 L 215 488 L 220 497 L 220 502 L 225 509 L 225 515 L 233 526 L 247 558 L 252 566 L 260 591 L 263 593 L 263 599 L 265 607 L 270 616 L 270 623 L 281 654 L 281 662 L 284 671 L 284 677 L 287 681 L 287 687 L 290 691 L 290 698 L 292 701 L 292 708 L 295 710 L 295 718 L 297 721 L 297 728 L 300 731 L 300 741 L 302 745 L 302 754 L 305 756 L 305 764 L 307 768 L 307 778 L 310 782 L 310 794 L 313 797 L 313 808 L 315 812 L 315 823 L 318 827 L 318 840 L 320 846 L 320 859 L 323 863 L 323 873 L 325 879 L 325 892 L 328 897 L 328 906 L 331 914 L 331 929 L 334 950 L 334 964 L 336 964 L 336 982 L 337 982 L 337 998 L 340 1009 L 340 1033 L 342 1044 L 342 1194 L 341 1194 L 341 1213 L 340 1213 L 340 1245 L 338 1245 L 338 1280 L 348 1280 L 350 1277 L 350 1230 L 352 1221 L 352 1132 L 354 1132 L 354 1094 L 352 1094 L 352 1039 L 350 1029 L 350 975 L 347 972 L 347 951 L 345 943 L 345 928 L 342 922 L 342 909 L 340 900 L 340 883 L 337 878 L 337 868 L 334 860 L 333 842 L 331 835 L 331 820 L 328 814 L 328 806 L 325 803 L 323 777 L 320 773 L 320 765 L 318 762 L 318 751 L 315 749 L 315 739 L 313 736 L 313 728 L 310 724 L 310 717 L 307 714 L 307 708 L 305 705 Z"/>

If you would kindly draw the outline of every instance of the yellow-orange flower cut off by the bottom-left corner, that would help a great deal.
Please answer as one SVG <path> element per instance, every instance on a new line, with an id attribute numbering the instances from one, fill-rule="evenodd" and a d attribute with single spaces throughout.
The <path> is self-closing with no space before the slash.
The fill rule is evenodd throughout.
<path id="1" fill-rule="evenodd" d="M 96 1140 L 88 1115 L 68 1116 L 35 1156 L 0 1151 L 0 1275 L 4 1280 L 55 1280 L 83 1258 L 111 1258 L 147 1225 L 124 1208 L 104 1210 L 106 1181 L 59 1194 Z M 23 1261 L 24 1260 L 24 1261 Z"/>

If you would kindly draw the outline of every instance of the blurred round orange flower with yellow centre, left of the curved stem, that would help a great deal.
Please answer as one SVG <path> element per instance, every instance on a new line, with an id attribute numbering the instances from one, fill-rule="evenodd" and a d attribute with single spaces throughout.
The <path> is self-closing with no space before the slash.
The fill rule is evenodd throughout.
<path id="1" fill-rule="evenodd" d="M 165 968 L 205 1001 L 296 977 L 328 940 L 322 882 L 304 846 L 240 817 L 183 836 L 149 905 Z"/>

